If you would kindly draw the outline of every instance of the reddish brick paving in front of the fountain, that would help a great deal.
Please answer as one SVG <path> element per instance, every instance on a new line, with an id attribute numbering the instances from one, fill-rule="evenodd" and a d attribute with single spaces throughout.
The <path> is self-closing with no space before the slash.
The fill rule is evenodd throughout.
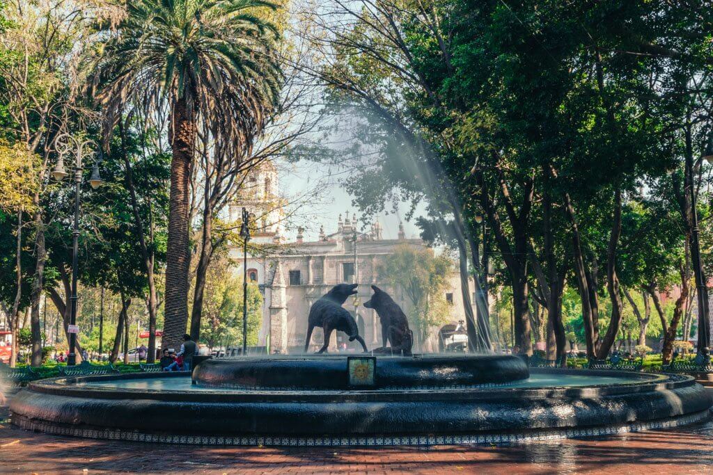
<path id="1" fill-rule="evenodd" d="M 0 409 L 3 474 L 713 473 L 713 422 L 616 437 L 508 446 L 175 447 L 56 437 L 12 427 Z"/>

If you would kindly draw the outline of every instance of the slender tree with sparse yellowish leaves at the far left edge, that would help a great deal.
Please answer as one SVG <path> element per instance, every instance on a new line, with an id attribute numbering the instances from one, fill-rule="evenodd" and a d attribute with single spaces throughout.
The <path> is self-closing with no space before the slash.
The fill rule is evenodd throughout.
<path id="1" fill-rule="evenodd" d="M 106 18 L 111 9 L 83 0 L 24 1 L 4 3 L 6 21 L 0 33 L 1 134 L 39 155 L 36 169 L 40 186 L 33 195 L 31 216 L 34 231 L 34 276 L 31 281 L 31 326 L 34 338 L 32 362 L 41 364 L 39 307 L 45 282 L 48 167 L 54 141 L 71 124 L 86 120 L 84 95 L 78 94 L 86 75 L 80 57 L 89 46 L 96 18 Z"/>

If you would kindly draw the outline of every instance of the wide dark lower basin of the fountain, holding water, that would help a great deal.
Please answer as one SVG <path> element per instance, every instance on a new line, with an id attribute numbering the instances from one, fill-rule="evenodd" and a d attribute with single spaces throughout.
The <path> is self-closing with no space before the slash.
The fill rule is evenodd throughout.
<path id="1" fill-rule="evenodd" d="M 14 398 L 12 421 L 54 434 L 184 444 L 461 444 L 672 427 L 707 419 L 713 404 L 691 377 L 601 370 L 532 369 L 526 379 L 437 389 L 276 389 L 245 380 L 238 389 L 200 381 L 179 373 L 43 380 Z"/>

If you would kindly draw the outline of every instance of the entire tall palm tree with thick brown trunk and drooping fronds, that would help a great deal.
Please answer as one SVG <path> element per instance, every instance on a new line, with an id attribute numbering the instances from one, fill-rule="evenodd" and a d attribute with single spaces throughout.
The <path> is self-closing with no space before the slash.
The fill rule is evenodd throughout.
<path id="1" fill-rule="evenodd" d="M 249 147 L 277 104 L 278 33 L 263 0 L 133 0 L 107 26 L 97 62 L 106 127 L 128 103 L 150 116 L 168 106 L 171 161 L 164 345 L 188 321 L 190 179 L 199 123 L 232 150 Z"/>

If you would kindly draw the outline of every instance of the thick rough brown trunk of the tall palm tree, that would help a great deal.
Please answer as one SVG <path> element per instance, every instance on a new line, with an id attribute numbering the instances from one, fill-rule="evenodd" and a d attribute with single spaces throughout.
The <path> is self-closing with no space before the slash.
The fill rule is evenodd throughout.
<path id="1" fill-rule="evenodd" d="M 190 267 L 190 174 L 195 145 L 195 120 L 185 100 L 171 108 L 170 134 L 173 158 L 166 246 L 165 324 L 163 343 L 178 348 L 188 323 L 188 272 Z"/>

